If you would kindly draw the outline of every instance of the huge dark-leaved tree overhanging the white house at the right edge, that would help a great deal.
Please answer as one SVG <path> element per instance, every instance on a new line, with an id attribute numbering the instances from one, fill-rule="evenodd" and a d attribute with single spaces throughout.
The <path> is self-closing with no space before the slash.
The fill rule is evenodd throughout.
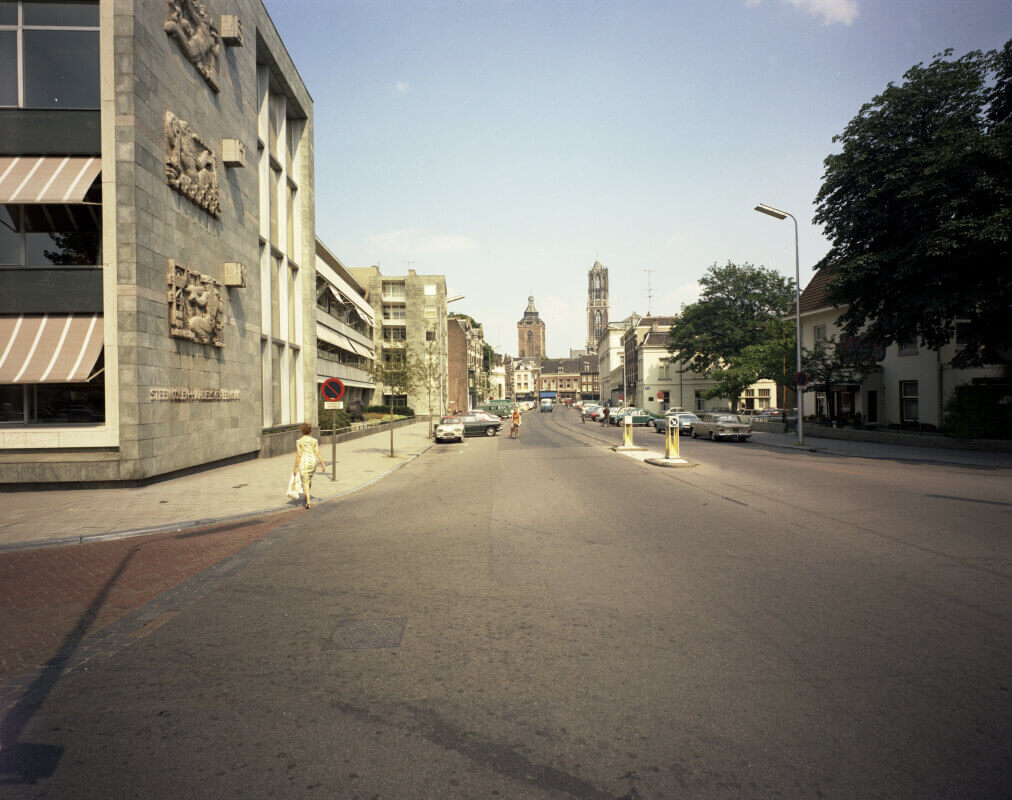
<path id="1" fill-rule="evenodd" d="M 815 221 L 847 334 L 940 348 L 952 363 L 1012 347 L 1012 40 L 918 64 L 863 105 L 825 160 Z"/>

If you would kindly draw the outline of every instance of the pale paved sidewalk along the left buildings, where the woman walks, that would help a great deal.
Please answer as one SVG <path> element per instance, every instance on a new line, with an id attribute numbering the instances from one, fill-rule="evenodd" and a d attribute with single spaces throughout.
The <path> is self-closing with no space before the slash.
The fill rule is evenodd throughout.
<path id="1" fill-rule="evenodd" d="M 337 480 L 317 472 L 314 503 L 370 483 L 428 449 L 428 423 L 337 445 Z M 331 446 L 320 445 L 330 467 Z M 126 534 L 192 528 L 272 511 L 297 509 L 284 492 L 294 453 L 169 478 L 140 488 L 72 488 L 0 493 L 0 550 Z M 312 514 L 312 511 L 309 513 Z"/>

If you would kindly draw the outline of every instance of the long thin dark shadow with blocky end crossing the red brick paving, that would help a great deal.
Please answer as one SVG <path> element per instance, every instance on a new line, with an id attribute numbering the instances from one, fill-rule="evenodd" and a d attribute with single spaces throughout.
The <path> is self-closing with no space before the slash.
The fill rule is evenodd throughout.
<path id="1" fill-rule="evenodd" d="M 77 624 L 64 637 L 59 652 L 38 669 L 37 677 L 0 720 L 0 786 L 34 783 L 39 778 L 49 778 L 56 771 L 64 748 L 20 741 L 21 734 L 70 668 L 72 657 L 90 632 L 98 612 L 108 600 L 109 592 L 126 570 L 138 549 L 140 547 L 135 547 L 123 556 L 81 614 Z"/>

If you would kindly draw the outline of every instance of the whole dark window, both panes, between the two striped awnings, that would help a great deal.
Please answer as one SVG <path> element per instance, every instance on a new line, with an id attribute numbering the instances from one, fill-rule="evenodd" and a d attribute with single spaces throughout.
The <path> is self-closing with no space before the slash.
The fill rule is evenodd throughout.
<path id="1" fill-rule="evenodd" d="M 0 206 L 0 267 L 101 263 L 101 206 Z"/>

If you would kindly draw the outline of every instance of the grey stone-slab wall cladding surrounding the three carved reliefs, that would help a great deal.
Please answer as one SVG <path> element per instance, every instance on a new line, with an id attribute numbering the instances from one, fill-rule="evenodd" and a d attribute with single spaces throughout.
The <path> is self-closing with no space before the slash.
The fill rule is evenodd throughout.
<path id="1" fill-rule="evenodd" d="M 115 158 L 117 176 L 119 479 L 145 478 L 261 446 L 258 48 L 270 52 L 286 91 L 310 115 L 310 137 L 312 100 L 258 0 L 209 0 L 206 5 L 215 19 L 222 13 L 237 14 L 246 33 L 243 47 L 222 49 L 217 93 L 163 30 L 165 0 L 117 0 L 115 5 L 116 146 L 114 154 L 103 158 Z M 168 185 L 166 111 L 189 122 L 216 153 L 225 139 L 238 139 L 245 146 L 245 168 L 219 161 L 220 216 Z M 304 236 L 309 237 L 304 252 L 310 253 L 315 236 L 312 164 L 312 148 L 304 147 L 301 194 L 308 221 Z M 168 259 L 219 281 L 225 277 L 226 262 L 250 267 L 247 287 L 222 291 L 223 348 L 169 336 L 167 303 L 159 297 L 165 292 Z M 312 300 L 312 289 L 304 291 L 304 298 Z M 304 319 L 312 320 L 312 307 L 308 302 Z M 311 349 L 304 348 L 308 360 Z M 315 364 L 306 365 L 306 374 L 315 374 Z M 152 386 L 238 390 L 240 398 L 151 403 Z"/>

